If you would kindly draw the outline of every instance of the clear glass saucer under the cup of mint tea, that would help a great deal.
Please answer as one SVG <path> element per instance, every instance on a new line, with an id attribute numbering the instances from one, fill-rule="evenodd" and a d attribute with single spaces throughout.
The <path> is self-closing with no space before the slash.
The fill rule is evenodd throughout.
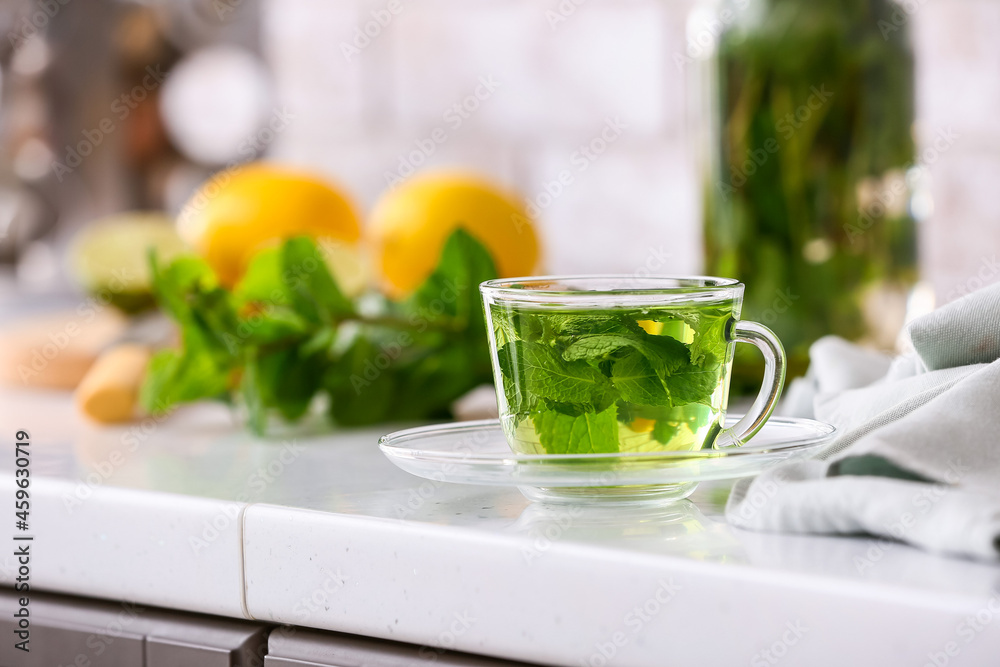
<path id="1" fill-rule="evenodd" d="M 730 415 L 732 426 L 740 415 Z M 742 447 L 621 454 L 511 451 L 500 422 L 421 426 L 382 436 L 379 448 L 408 473 L 438 482 L 514 486 L 531 500 L 646 504 L 686 498 L 698 482 L 756 475 L 807 459 L 833 439 L 830 424 L 772 417 Z"/>

